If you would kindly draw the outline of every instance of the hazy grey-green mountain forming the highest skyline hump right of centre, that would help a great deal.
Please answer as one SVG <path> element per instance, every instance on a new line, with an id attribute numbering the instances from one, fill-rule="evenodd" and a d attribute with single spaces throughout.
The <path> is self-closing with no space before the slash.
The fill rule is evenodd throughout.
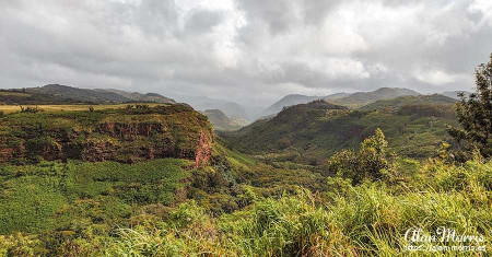
<path id="1" fill-rule="evenodd" d="M 356 92 L 348 96 L 329 102 L 349 107 L 361 107 L 379 100 L 391 100 L 398 96 L 406 96 L 406 95 L 417 96 L 421 94 L 409 89 L 380 87 L 372 92 Z"/>

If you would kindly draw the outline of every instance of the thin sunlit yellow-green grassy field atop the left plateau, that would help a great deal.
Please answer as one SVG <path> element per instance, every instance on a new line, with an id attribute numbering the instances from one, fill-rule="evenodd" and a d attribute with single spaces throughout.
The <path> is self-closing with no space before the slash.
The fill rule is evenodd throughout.
<path id="1" fill-rule="evenodd" d="M 0 92 L 1 93 L 1 92 Z M 132 103 L 134 104 L 134 103 Z M 154 107 L 154 106 L 162 106 L 162 105 L 166 105 L 166 104 L 149 104 L 149 103 L 143 103 L 145 105 L 149 105 L 150 107 Z M 94 107 L 95 110 L 97 109 L 115 109 L 115 108 L 125 108 L 127 107 L 129 104 L 108 104 L 108 105 L 22 105 L 22 107 L 38 107 L 45 112 L 62 112 L 62 110 L 87 110 L 90 106 Z M 21 112 L 21 105 L 0 105 L 0 112 L 3 112 L 4 114 L 11 114 L 11 113 L 19 113 Z"/>

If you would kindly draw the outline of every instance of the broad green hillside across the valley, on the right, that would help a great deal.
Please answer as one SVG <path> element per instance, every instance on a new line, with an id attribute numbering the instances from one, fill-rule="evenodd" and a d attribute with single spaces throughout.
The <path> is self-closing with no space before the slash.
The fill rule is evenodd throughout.
<path id="1" fill-rule="evenodd" d="M 450 104 L 366 112 L 316 101 L 288 107 L 271 119 L 224 137 L 231 147 L 247 153 L 269 152 L 282 160 L 318 163 L 341 149 L 358 147 L 380 128 L 390 151 L 419 159 L 434 156 L 443 141 L 452 141 L 446 124 L 456 124 Z"/>

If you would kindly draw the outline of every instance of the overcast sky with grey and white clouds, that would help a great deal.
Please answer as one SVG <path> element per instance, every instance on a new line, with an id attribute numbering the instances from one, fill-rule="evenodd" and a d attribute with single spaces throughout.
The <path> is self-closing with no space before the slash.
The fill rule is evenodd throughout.
<path id="1" fill-rule="evenodd" d="M 268 105 L 470 90 L 491 0 L 0 0 L 0 87 L 60 83 Z"/>

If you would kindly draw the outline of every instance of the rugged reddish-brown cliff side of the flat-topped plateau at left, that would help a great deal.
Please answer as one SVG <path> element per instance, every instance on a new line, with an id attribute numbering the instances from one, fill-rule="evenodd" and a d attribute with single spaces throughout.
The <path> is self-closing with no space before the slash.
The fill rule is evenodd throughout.
<path id="1" fill-rule="evenodd" d="M 17 113 L 0 118 L 0 164 L 177 157 L 198 165 L 210 157 L 213 138 L 207 117 L 185 105 Z"/>

